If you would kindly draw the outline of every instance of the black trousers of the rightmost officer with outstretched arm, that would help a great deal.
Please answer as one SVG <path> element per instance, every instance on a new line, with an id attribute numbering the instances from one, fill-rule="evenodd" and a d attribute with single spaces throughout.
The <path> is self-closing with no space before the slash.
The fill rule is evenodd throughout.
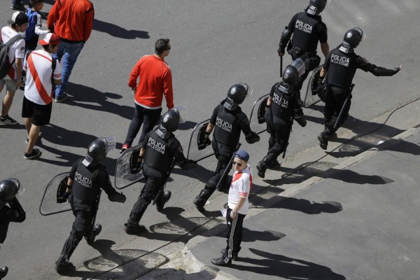
<path id="1" fill-rule="evenodd" d="M 334 130 L 335 122 L 339 116 L 346 98 L 350 94 L 350 89 L 344 89 L 342 87 L 335 87 L 333 85 L 328 85 L 325 92 L 325 109 L 324 109 L 324 123 L 325 130 L 328 130 L 328 134 L 334 133 L 338 130 L 339 127 L 345 122 L 347 116 L 349 116 L 350 106 L 351 106 L 351 97 L 349 102 L 347 102 L 346 107 L 344 108 L 342 118 L 339 120 L 337 128 Z"/>

